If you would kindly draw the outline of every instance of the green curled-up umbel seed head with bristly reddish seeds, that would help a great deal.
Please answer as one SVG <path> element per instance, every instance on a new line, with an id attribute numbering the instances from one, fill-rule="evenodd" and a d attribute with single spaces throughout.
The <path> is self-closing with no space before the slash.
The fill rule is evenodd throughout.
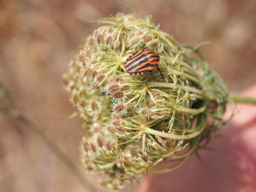
<path id="1" fill-rule="evenodd" d="M 81 145 L 83 164 L 116 190 L 148 171 L 175 169 L 205 147 L 226 123 L 229 96 L 198 47 L 180 45 L 151 17 L 119 14 L 97 22 L 103 26 L 86 38 L 64 83 L 89 135 Z M 164 80 L 156 69 L 146 80 L 147 74 L 125 71 L 126 59 L 143 47 L 159 54 Z M 174 164 L 154 168 L 167 158 Z"/>

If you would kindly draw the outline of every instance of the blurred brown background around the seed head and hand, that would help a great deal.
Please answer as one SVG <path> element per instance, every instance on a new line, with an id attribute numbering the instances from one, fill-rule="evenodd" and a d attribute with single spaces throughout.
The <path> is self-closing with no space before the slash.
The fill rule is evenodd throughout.
<path id="1" fill-rule="evenodd" d="M 178 42 L 202 47 L 203 58 L 231 92 L 256 82 L 254 0 L 0 0 L 0 81 L 19 110 L 80 166 L 81 121 L 61 75 L 72 51 L 98 27 L 91 20 L 128 12 L 152 15 Z M 0 100 L 1 101 L 1 100 Z M 93 183 L 94 174 L 86 174 Z M 135 187 L 136 188 L 136 187 Z M 130 186 L 124 191 L 135 191 Z M 0 191 L 86 191 L 51 150 L 14 118 L 0 114 Z"/>

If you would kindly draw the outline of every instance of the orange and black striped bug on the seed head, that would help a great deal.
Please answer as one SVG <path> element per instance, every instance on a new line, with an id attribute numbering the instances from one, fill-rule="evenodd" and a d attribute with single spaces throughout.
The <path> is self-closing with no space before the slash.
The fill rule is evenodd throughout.
<path id="1" fill-rule="evenodd" d="M 131 75 L 140 75 L 146 72 L 149 72 L 149 75 L 151 75 L 153 69 L 158 69 L 162 76 L 162 72 L 158 68 L 159 59 L 160 57 L 157 53 L 154 53 L 154 51 L 145 47 L 137 53 L 129 55 L 124 62 L 124 69 Z M 145 79 L 146 77 L 143 80 Z M 164 80 L 163 76 L 162 79 Z"/>

